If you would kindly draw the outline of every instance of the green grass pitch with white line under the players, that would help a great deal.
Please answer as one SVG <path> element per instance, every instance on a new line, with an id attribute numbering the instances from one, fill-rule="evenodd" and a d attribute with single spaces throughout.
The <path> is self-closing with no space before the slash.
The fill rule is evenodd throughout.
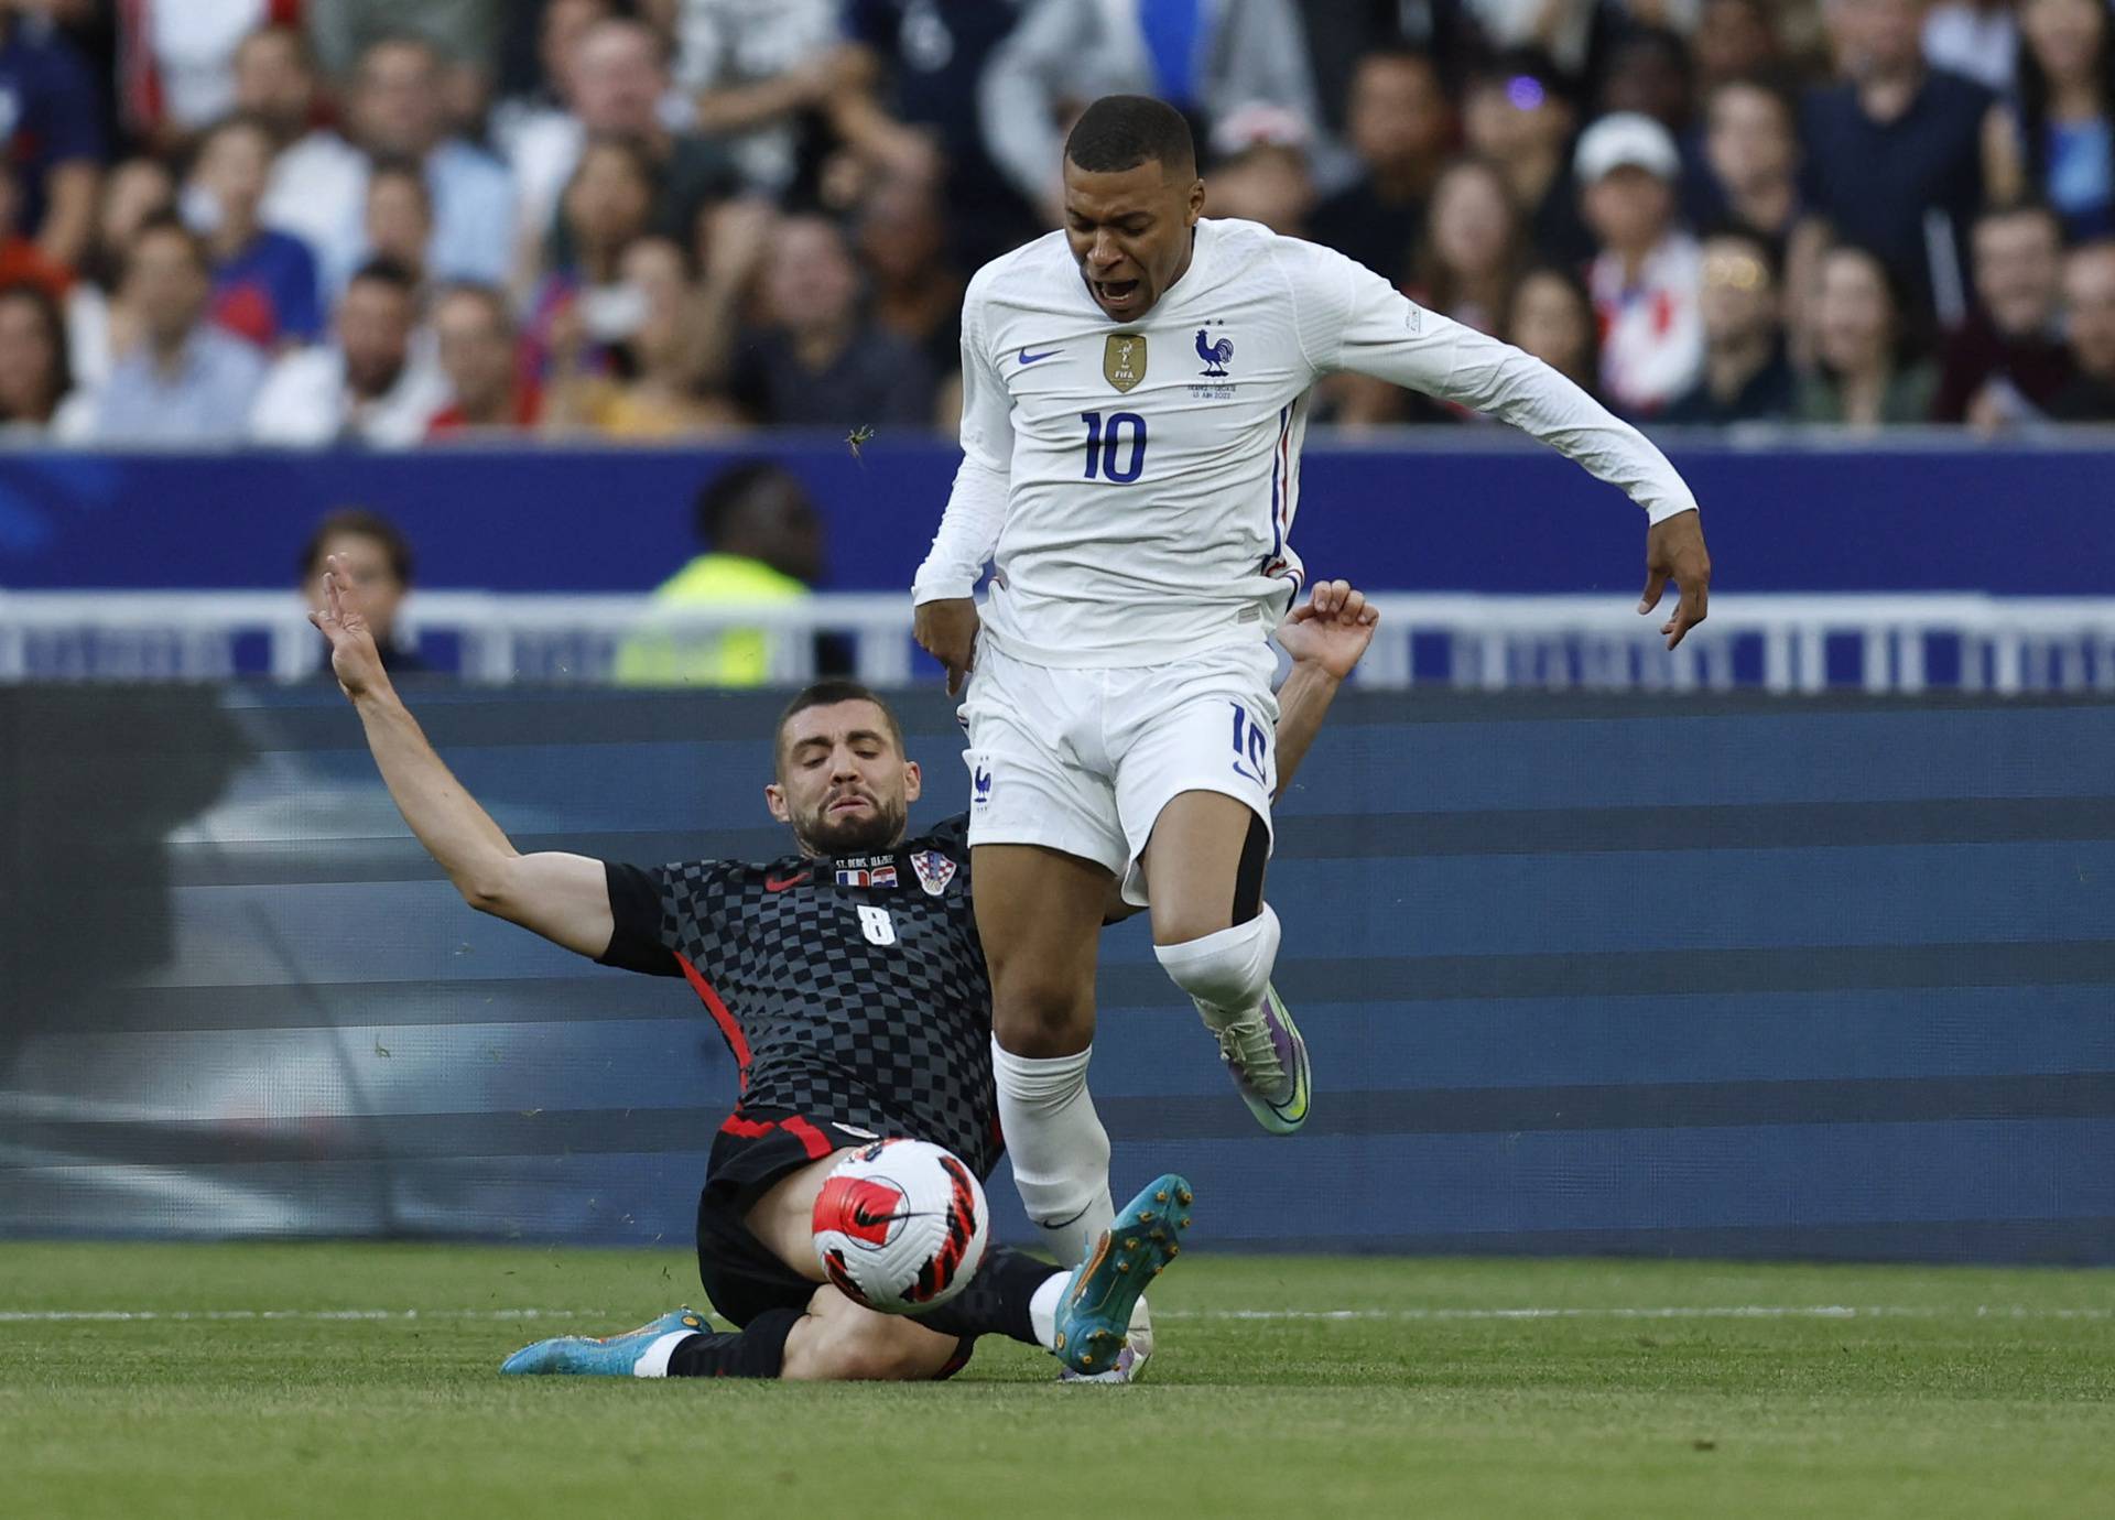
<path id="1" fill-rule="evenodd" d="M 2111 1290 L 1195 1254 L 1142 1387 L 802 1387 L 495 1374 L 673 1252 L 0 1245 L 0 1516 L 2115 1516 Z"/>

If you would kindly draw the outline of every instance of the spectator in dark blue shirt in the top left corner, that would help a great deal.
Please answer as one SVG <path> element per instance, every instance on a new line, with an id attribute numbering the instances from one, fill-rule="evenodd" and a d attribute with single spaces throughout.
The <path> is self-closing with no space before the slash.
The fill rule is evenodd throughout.
<path id="1" fill-rule="evenodd" d="M 0 159 L 15 171 L 17 226 L 72 268 L 95 226 L 104 127 L 74 47 L 27 6 L 0 4 Z"/>

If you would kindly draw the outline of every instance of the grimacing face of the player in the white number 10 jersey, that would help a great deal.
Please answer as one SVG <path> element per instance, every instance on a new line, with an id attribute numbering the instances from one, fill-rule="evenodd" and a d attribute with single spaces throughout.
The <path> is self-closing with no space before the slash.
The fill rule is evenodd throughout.
<path id="1" fill-rule="evenodd" d="M 1159 159 L 1117 171 L 1066 159 L 1064 235 L 1087 294 L 1115 321 L 1144 317 L 1182 277 L 1201 211 L 1203 180 L 1172 175 Z"/>

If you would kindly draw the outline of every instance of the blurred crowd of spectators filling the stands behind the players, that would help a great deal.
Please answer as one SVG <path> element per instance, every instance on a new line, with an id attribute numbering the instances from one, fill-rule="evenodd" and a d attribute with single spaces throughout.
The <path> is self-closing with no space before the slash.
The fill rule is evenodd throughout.
<path id="1" fill-rule="evenodd" d="M 2109 0 L 0 0 L 0 423 L 950 429 L 1112 91 L 1648 425 L 2115 421 Z"/>

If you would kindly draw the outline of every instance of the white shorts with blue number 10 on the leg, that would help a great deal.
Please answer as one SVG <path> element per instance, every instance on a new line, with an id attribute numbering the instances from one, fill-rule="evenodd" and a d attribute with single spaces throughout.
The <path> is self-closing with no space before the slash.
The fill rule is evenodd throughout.
<path id="1" fill-rule="evenodd" d="M 1277 655 L 1256 643 L 1165 666 L 1055 668 L 977 643 L 962 702 L 969 844 L 1036 844 L 1093 860 L 1146 903 L 1138 858 L 1161 808 L 1216 791 L 1271 822 Z"/>

